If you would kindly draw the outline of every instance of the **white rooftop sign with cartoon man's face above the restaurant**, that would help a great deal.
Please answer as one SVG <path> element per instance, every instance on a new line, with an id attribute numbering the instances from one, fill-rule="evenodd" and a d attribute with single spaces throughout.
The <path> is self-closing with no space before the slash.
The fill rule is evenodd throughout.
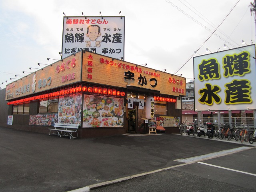
<path id="1" fill-rule="evenodd" d="M 125 17 L 64 17 L 63 58 L 80 50 L 124 58 Z"/>

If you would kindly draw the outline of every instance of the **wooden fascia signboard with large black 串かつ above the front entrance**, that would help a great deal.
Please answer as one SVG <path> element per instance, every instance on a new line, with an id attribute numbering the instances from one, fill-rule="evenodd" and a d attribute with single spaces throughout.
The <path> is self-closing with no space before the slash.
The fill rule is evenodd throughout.
<path id="1" fill-rule="evenodd" d="M 186 95 L 184 77 L 92 52 L 83 55 L 82 81 L 123 88 L 135 86 L 172 96 Z"/>

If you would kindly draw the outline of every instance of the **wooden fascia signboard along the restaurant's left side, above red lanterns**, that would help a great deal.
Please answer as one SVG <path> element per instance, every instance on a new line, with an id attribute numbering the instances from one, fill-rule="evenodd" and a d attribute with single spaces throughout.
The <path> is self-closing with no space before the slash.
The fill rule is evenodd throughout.
<path id="1" fill-rule="evenodd" d="M 32 72 L 6 86 L 6 100 L 43 92 L 81 81 L 82 52 Z"/>

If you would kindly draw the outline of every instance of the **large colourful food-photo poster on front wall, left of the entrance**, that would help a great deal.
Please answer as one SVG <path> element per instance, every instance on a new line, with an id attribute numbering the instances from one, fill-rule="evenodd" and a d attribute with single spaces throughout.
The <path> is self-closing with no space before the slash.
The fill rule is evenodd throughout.
<path id="1" fill-rule="evenodd" d="M 124 126 L 124 99 L 84 95 L 83 128 Z"/>

